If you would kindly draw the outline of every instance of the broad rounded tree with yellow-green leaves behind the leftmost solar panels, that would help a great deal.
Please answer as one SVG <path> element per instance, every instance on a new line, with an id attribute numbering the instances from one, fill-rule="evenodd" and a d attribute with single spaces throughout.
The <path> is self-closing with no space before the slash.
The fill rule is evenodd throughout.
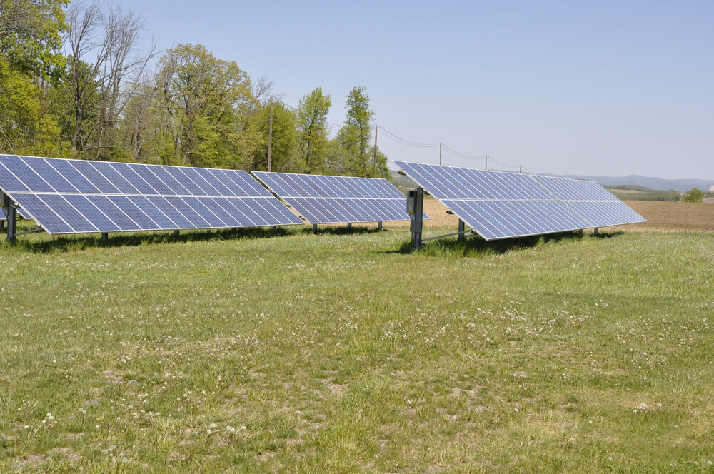
<path id="1" fill-rule="evenodd" d="M 179 44 L 159 59 L 154 153 L 166 164 L 246 168 L 260 146 L 250 128 L 256 99 L 238 64 Z"/>

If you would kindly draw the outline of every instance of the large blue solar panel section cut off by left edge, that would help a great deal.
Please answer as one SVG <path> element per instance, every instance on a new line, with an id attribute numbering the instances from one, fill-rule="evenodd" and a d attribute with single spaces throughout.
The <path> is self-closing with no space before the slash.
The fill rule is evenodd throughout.
<path id="1" fill-rule="evenodd" d="M 0 190 L 48 233 L 303 223 L 237 170 L 0 155 Z"/>

